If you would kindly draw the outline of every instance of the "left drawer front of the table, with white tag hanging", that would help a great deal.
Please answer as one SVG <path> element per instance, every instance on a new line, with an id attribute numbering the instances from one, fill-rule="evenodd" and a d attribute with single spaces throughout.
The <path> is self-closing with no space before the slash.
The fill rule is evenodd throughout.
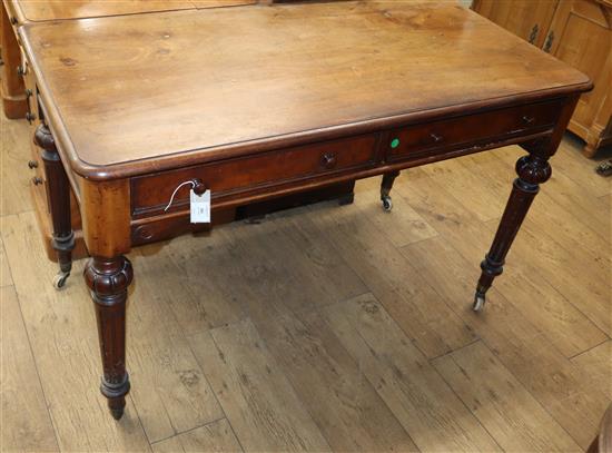
<path id="1" fill-rule="evenodd" d="M 376 160 L 376 145 L 377 136 L 368 135 L 136 177 L 131 180 L 132 215 L 162 214 L 172 191 L 181 183 L 194 178 L 200 179 L 211 190 L 213 199 L 218 199 L 257 188 L 372 166 Z M 181 206 L 185 208 L 188 198 L 189 186 L 186 186 L 175 196 L 170 210 Z"/>

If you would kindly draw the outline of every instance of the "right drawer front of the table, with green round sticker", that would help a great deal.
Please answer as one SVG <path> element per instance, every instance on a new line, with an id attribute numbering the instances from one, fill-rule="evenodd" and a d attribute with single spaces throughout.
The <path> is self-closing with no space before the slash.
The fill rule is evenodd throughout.
<path id="1" fill-rule="evenodd" d="M 409 159 L 543 130 L 555 124 L 562 104 L 553 100 L 395 129 L 385 144 L 386 158 Z"/>

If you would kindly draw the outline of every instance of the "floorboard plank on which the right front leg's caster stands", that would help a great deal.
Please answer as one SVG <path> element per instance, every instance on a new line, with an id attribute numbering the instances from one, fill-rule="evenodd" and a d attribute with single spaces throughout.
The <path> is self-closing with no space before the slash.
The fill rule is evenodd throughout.
<path id="1" fill-rule="evenodd" d="M 484 312 L 472 312 L 477 272 L 451 243 L 433 238 L 409 245 L 404 252 L 446 301 L 452 301 L 455 312 L 517 381 L 586 449 L 608 406 L 605 396 L 594 391 L 589 376 L 556 349 L 547 332 L 532 324 L 495 286 Z M 441 266 L 447 269 L 443 278 L 436 272 Z"/>

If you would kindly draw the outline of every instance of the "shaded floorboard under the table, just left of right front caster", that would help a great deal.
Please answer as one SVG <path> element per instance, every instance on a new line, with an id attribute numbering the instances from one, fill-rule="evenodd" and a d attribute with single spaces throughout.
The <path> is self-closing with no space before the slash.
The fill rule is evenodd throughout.
<path id="1" fill-rule="evenodd" d="M 385 213 L 381 211 L 381 216 Z M 359 206 L 313 208 L 319 232 L 337 248 L 369 290 L 428 357 L 474 341 L 473 333 L 414 272 Z"/>

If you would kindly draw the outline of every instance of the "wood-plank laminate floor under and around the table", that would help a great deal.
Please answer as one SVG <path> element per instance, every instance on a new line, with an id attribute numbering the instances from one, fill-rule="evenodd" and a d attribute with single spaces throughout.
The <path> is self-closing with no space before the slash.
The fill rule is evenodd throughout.
<path id="1" fill-rule="evenodd" d="M 56 292 L 27 193 L 28 127 L 2 118 L 4 452 L 584 450 L 612 398 L 612 178 L 566 137 L 484 313 L 471 312 L 523 151 L 379 178 L 355 203 L 135 249 L 132 392 L 98 391 L 75 263 Z"/>

